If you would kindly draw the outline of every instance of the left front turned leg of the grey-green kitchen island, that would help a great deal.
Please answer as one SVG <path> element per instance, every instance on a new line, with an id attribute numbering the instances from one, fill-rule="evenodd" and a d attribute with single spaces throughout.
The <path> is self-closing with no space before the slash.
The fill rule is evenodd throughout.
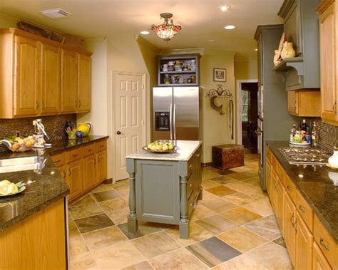
<path id="1" fill-rule="evenodd" d="M 134 160 L 127 160 L 127 171 L 129 173 L 129 210 L 128 232 L 137 232 L 138 220 L 136 219 L 136 194 L 135 194 L 135 167 Z"/>

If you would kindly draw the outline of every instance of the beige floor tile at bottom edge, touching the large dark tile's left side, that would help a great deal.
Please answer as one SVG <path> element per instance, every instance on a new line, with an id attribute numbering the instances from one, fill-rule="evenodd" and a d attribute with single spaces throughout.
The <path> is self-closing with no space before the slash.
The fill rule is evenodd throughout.
<path id="1" fill-rule="evenodd" d="M 208 269 L 208 266 L 203 264 L 193 254 L 186 249 L 177 249 L 170 251 L 154 259 L 150 259 L 150 264 L 158 270 L 199 270 Z"/>

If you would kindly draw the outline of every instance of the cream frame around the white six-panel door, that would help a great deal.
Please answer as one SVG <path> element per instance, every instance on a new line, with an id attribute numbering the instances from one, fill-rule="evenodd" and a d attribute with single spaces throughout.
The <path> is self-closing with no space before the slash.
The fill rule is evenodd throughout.
<path id="1" fill-rule="evenodd" d="M 116 135 L 116 123 L 115 123 L 115 115 L 116 115 L 116 108 L 115 108 L 115 101 L 116 101 L 116 76 L 117 75 L 125 75 L 125 76 L 140 76 L 142 78 L 142 145 L 146 145 L 147 140 L 147 126 L 149 125 L 147 120 L 147 108 L 149 107 L 149 102 L 147 102 L 147 91 L 146 91 L 146 73 L 138 73 L 138 72 L 126 72 L 126 71 L 113 71 L 111 73 L 111 130 L 110 130 L 110 137 L 111 137 L 111 162 L 113 163 L 113 182 L 116 182 L 116 143 L 115 143 L 115 135 Z M 109 163 L 108 163 L 109 165 Z"/>

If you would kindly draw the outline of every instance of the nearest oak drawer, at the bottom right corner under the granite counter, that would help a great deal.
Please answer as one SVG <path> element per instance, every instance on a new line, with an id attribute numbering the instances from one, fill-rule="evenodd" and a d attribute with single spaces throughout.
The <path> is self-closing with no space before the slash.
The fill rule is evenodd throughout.
<path id="1" fill-rule="evenodd" d="M 331 266 L 337 266 L 338 245 L 316 216 L 314 217 L 314 241 L 317 242 L 319 249 L 322 250 L 329 264 L 331 264 Z"/>

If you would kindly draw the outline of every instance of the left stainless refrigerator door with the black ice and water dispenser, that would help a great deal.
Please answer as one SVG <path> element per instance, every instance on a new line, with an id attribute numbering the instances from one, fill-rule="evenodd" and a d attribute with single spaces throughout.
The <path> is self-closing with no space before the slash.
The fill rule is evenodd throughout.
<path id="1" fill-rule="evenodd" d="M 173 140 L 173 88 L 153 88 L 153 140 Z"/>

